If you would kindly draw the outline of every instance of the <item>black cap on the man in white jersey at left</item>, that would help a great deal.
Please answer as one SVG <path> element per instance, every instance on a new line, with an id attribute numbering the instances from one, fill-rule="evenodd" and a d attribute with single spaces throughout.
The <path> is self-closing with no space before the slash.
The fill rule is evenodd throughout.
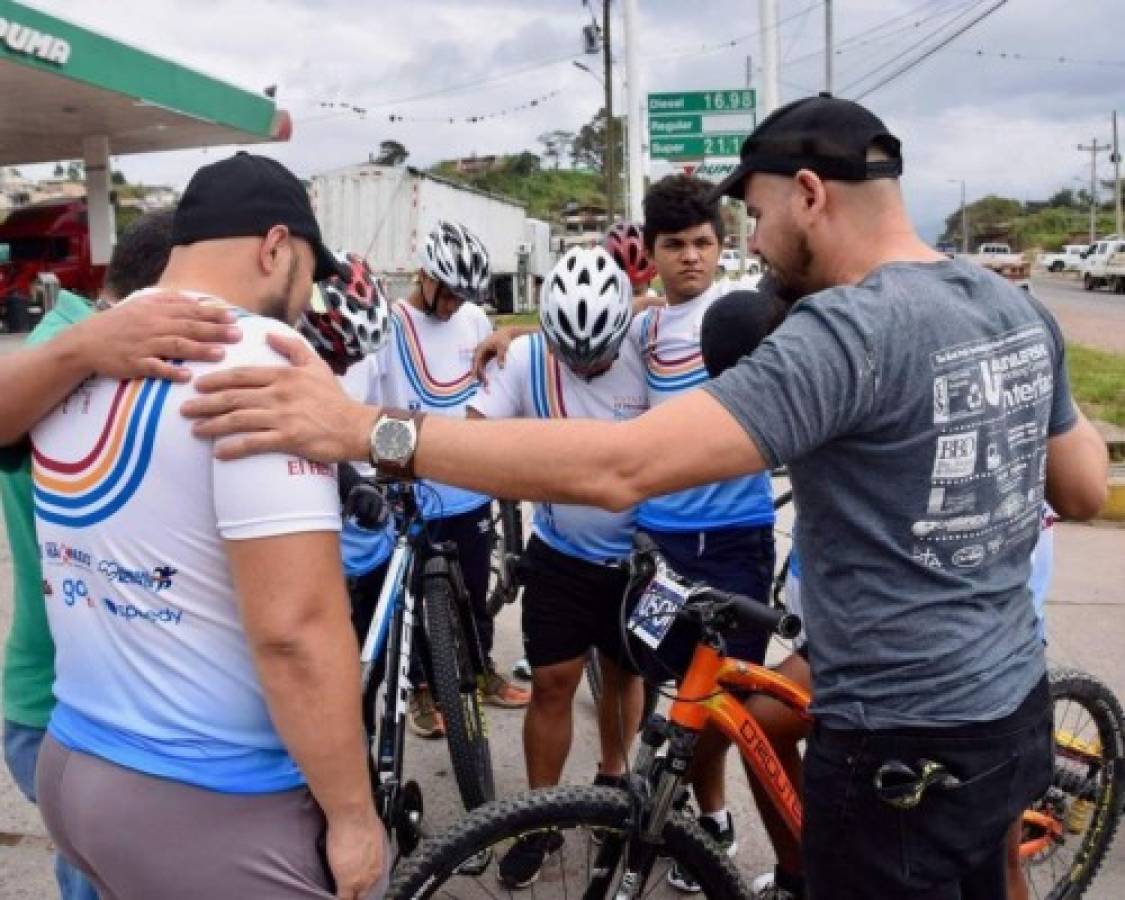
<path id="1" fill-rule="evenodd" d="M 225 237 L 264 237 L 274 225 L 313 248 L 313 279 L 346 277 L 321 238 L 308 191 L 277 160 L 240 151 L 199 169 L 188 182 L 172 219 L 172 245 Z"/>

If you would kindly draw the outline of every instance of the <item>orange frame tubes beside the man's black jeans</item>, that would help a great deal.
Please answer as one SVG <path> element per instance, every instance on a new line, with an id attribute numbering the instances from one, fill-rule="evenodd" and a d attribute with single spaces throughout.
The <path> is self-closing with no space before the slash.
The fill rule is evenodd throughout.
<path id="1" fill-rule="evenodd" d="M 718 650 L 700 644 L 669 713 L 669 721 L 674 726 L 690 731 L 698 734 L 709 722 L 722 731 L 738 747 L 742 759 L 766 789 L 785 825 L 794 837 L 800 838 L 800 792 L 785 774 L 762 726 L 723 688 L 771 696 L 806 720 L 811 719 L 809 693 L 772 669 L 742 659 L 722 657 Z"/>

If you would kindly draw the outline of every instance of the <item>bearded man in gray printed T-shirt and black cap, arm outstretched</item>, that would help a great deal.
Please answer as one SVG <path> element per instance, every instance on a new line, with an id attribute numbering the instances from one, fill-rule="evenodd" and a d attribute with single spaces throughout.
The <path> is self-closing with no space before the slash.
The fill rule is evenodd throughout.
<path id="1" fill-rule="evenodd" d="M 1005 832 L 1051 775 L 1026 596 L 1040 504 L 1095 515 L 1108 464 L 1053 318 L 927 246 L 901 166 L 899 141 L 857 104 L 778 109 L 721 186 L 746 201 L 791 305 L 755 353 L 629 422 L 428 417 L 399 456 L 495 496 L 609 507 L 788 464 L 816 698 L 809 896 L 991 900 Z M 277 345 L 302 364 L 197 384 L 197 433 L 246 432 L 220 444 L 230 457 L 364 456 L 390 417 Z"/>

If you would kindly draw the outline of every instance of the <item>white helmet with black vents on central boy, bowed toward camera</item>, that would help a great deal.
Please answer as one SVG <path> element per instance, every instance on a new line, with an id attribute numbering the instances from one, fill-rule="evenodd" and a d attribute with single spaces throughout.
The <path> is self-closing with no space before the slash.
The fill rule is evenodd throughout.
<path id="1" fill-rule="evenodd" d="M 612 360 L 632 318 L 632 288 L 613 256 L 572 248 L 544 287 L 539 322 L 551 351 L 579 374 Z"/>

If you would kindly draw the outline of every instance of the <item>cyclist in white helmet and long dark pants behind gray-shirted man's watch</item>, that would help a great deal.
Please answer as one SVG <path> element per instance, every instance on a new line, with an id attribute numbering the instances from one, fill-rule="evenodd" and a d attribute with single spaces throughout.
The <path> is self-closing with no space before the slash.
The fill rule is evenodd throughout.
<path id="1" fill-rule="evenodd" d="M 392 309 L 390 341 L 371 358 L 363 377 L 349 374 L 349 393 L 367 403 L 387 403 L 413 412 L 461 417 L 477 393 L 472 349 L 492 332 L 478 304 L 489 286 L 488 251 L 464 225 L 438 222 L 418 250 L 418 273 L 410 295 Z M 433 541 L 457 544 L 465 585 L 472 603 L 482 650 L 488 658 L 485 701 L 524 706 L 528 692 L 510 684 L 492 664 L 493 622 L 487 612 L 492 501 L 483 494 L 433 482 L 417 488 L 418 505 Z M 444 722 L 414 654 L 408 724 L 425 738 L 444 735 Z"/>

